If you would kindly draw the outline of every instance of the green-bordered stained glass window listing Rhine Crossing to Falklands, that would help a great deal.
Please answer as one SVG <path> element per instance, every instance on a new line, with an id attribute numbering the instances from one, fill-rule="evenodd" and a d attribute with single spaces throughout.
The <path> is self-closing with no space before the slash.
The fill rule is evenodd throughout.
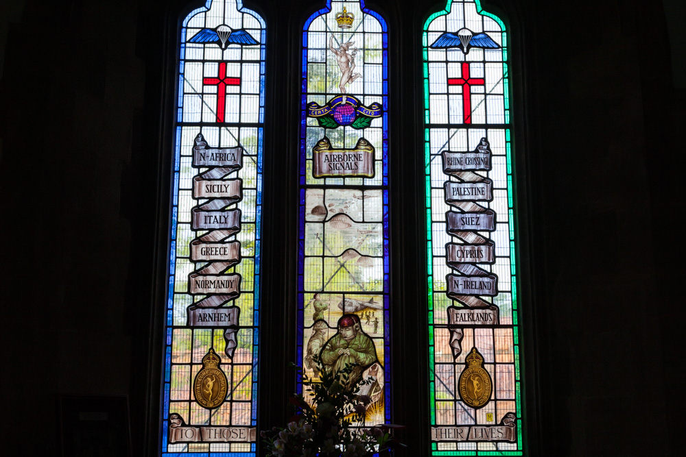
<path id="1" fill-rule="evenodd" d="M 423 32 L 434 456 L 521 456 L 508 42 L 479 0 Z"/>

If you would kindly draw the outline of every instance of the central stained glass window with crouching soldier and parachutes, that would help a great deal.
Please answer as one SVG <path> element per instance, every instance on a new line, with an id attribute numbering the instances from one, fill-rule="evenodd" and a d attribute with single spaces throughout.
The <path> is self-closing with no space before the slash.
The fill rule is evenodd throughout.
<path id="1" fill-rule="evenodd" d="M 359 364 L 368 424 L 390 419 L 387 61 L 364 1 L 329 0 L 305 23 L 298 365 L 316 378 L 316 356 Z"/>

